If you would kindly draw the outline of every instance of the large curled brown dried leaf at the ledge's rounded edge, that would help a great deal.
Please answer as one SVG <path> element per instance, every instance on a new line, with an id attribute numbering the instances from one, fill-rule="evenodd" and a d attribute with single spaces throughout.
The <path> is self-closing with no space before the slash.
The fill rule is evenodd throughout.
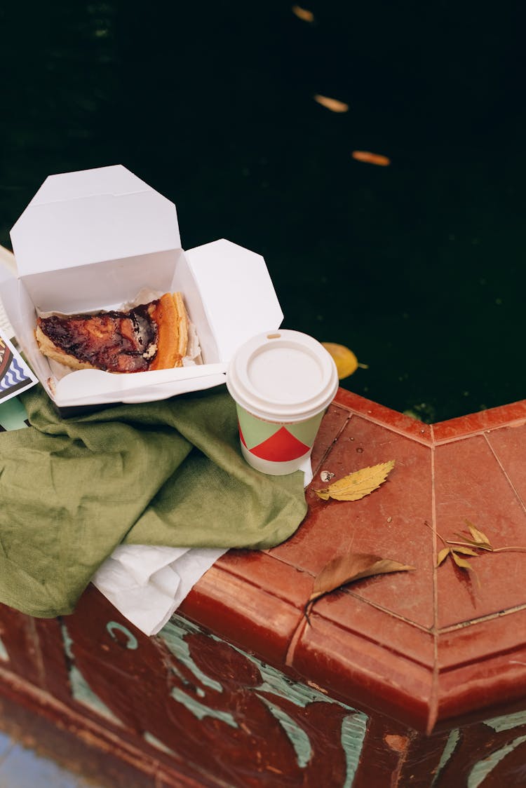
<path id="1" fill-rule="evenodd" d="M 308 601 L 313 602 L 324 594 L 340 588 L 341 585 L 370 578 L 375 574 L 389 572 L 403 572 L 414 569 L 405 563 L 399 563 L 389 558 L 373 556 L 365 552 L 349 552 L 345 556 L 337 556 L 330 560 L 316 576 L 311 596 Z"/>

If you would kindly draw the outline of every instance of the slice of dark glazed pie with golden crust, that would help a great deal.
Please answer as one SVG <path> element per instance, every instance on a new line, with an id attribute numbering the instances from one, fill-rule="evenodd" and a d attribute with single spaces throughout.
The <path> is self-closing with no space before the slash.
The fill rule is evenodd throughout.
<path id="1" fill-rule="evenodd" d="M 181 293 L 127 311 L 38 318 L 40 351 L 73 370 L 145 372 L 182 366 L 188 316 Z"/>

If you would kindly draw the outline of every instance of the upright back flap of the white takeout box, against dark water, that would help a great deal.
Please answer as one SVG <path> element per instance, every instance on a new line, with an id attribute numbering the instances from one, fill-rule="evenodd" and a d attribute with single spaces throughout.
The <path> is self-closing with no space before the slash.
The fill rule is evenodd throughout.
<path id="1" fill-rule="evenodd" d="M 11 240 L 19 276 L 181 249 L 174 204 L 122 165 L 50 175 Z"/>

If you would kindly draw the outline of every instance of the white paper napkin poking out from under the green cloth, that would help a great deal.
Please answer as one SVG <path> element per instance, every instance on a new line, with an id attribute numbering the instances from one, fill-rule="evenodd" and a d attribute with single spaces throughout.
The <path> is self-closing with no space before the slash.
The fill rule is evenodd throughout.
<path id="1" fill-rule="evenodd" d="M 312 480 L 310 457 L 301 470 L 307 486 Z M 119 545 L 92 582 L 137 629 L 155 635 L 225 552 L 222 548 Z"/>

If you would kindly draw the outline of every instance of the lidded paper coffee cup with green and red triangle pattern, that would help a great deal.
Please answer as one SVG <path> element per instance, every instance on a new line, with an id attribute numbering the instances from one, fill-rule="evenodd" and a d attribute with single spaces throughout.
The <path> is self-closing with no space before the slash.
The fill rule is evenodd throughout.
<path id="1" fill-rule="evenodd" d="M 299 331 L 253 336 L 233 356 L 226 386 L 237 406 L 244 459 L 273 476 L 292 474 L 311 454 L 338 391 L 333 359 Z"/>

